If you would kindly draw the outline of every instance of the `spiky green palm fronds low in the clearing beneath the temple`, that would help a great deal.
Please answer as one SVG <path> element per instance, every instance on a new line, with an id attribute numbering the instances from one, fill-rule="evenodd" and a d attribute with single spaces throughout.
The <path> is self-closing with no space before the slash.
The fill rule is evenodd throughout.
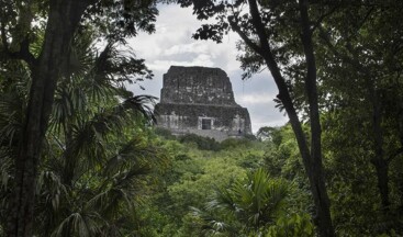
<path id="1" fill-rule="evenodd" d="M 275 223 L 284 210 L 290 184 L 283 180 L 270 179 L 264 169 L 248 173 L 244 180 L 237 180 L 230 188 L 217 189 L 205 211 L 198 211 L 204 223 L 214 229 L 212 221 L 205 214 L 215 213 L 209 218 L 216 218 L 219 213 L 226 213 L 244 224 L 244 228 L 259 232 L 261 227 Z M 198 213 L 195 212 L 195 213 Z"/>

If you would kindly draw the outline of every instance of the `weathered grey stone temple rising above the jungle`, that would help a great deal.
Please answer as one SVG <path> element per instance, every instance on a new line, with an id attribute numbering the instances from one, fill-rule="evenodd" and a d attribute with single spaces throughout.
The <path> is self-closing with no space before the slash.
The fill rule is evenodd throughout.
<path id="1" fill-rule="evenodd" d="M 223 140 L 251 134 L 249 113 L 235 102 L 230 78 L 220 68 L 171 66 L 155 112 L 157 125 L 176 135 Z"/>

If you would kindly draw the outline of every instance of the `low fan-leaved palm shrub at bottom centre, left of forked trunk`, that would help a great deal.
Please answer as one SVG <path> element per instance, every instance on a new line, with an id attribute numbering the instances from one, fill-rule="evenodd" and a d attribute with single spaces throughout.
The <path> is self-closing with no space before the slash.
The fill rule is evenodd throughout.
<path id="1" fill-rule="evenodd" d="M 290 192 L 289 182 L 271 179 L 266 170 L 257 169 L 246 179 L 237 179 L 227 188 L 216 189 L 202 208 L 192 207 L 194 228 L 206 235 L 262 236 L 284 216 Z"/>

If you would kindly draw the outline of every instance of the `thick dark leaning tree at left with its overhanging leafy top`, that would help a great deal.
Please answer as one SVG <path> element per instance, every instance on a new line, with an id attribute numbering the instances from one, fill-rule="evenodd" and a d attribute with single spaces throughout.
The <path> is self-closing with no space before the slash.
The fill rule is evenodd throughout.
<path id="1" fill-rule="evenodd" d="M 57 81 L 64 77 L 74 34 L 90 22 L 102 29 L 99 35 L 115 40 L 136 35 L 138 29 L 152 32 L 149 22 L 157 11 L 150 1 L 123 0 L 2 0 L 0 7 L 1 59 L 24 61 L 32 79 L 14 160 L 15 188 L 7 229 L 8 236 L 32 236 L 37 166 Z M 38 40 L 41 25 L 43 41 L 38 53 L 33 54 L 32 43 Z"/>

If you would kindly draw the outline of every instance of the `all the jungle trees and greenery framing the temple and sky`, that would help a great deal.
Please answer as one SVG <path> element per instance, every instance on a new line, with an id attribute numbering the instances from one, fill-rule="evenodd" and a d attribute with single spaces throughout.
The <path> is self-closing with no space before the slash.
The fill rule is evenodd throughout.
<path id="1" fill-rule="evenodd" d="M 0 236 L 403 236 L 402 1 L 179 3 L 211 19 L 193 37 L 242 37 L 290 123 L 154 127 L 126 38 L 156 1 L 0 0 Z"/>

